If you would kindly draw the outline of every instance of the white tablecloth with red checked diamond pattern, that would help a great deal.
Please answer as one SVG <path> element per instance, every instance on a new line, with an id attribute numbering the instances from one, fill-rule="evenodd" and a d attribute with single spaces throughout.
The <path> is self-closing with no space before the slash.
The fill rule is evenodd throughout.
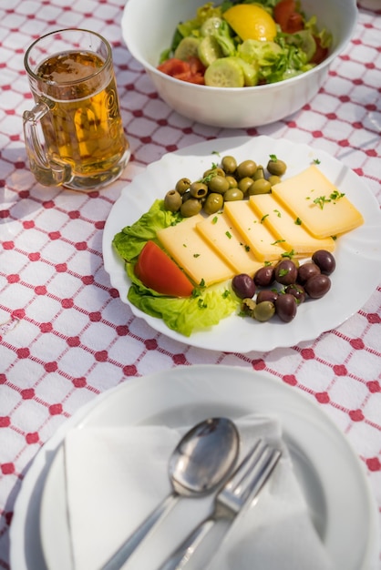
<path id="1" fill-rule="evenodd" d="M 361 310 L 314 341 L 269 352 L 206 351 L 132 315 L 110 285 L 101 242 L 112 205 L 139 172 L 165 153 L 215 137 L 267 135 L 324 149 L 381 202 L 381 11 L 360 5 L 355 36 L 301 111 L 265 127 L 224 130 L 180 117 L 158 97 L 123 42 L 124 0 L 64 4 L 14 0 L 0 7 L 0 568 L 10 567 L 15 499 L 41 446 L 98 394 L 180 364 L 266 371 L 305 392 L 354 446 L 380 513 L 381 284 Z M 27 46 L 76 26 L 113 47 L 132 153 L 117 182 L 89 195 L 36 184 L 22 133 L 23 111 L 32 106 Z"/>

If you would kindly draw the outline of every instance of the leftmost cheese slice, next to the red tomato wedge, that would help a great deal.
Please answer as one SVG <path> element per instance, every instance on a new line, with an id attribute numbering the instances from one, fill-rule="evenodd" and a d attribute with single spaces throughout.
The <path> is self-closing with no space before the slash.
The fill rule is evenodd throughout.
<path id="1" fill-rule="evenodd" d="M 204 219 L 201 214 L 183 219 L 176 226 L 159 229 L 158 239 L 170 256 L 197 285 L 207 287 L 231 279 L 232 266 L 222 260 L 216 250 L 202 238 L 196 226 Z"/>

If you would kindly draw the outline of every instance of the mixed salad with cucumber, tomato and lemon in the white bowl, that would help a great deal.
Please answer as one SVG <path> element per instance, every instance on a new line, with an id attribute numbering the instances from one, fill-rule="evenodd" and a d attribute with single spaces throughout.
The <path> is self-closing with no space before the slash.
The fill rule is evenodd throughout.
<path id="1" fill-rule="evenodd" d="M 177 25 L 158 69 L 209 87 L 254 87 L 308 71 L 331 42 L 298 0 L 208 2 Z"/>

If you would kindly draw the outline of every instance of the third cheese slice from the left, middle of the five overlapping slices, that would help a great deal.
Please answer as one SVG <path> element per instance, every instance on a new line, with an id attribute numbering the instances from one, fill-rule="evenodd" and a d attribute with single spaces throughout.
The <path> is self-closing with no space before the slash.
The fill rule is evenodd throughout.
<path id="1" fill-rule="evenodd" d="M 261 217 L 253 211 L 248 200 L 225 202 L 223 211 L 242 236 L 242 240 L 250 246 L 257 260 L 279 260 L 284 253 L 282 244 L 278 243 L 270 229 L 261 223 Z"/>

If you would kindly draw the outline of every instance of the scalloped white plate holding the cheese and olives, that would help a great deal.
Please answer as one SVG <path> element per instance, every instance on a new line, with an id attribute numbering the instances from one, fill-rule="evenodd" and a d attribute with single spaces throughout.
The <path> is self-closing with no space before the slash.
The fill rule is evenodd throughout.
<path id="1" fill-rule="evenodd" d="M 209 331 L 184 337 L 171 331 L 161 319 L 150 317 L 127 299 L 130 281 L 123 261 L 112 247 L 112 239 L 125 226 L 134 223 L 156 198 L 164 198 L 182 177 L 195 180 L 211 164 L 231 154 L 237 160 L 254 159 L 267 164 L 270 154 L 287 163 L 287 177 L 310 166 L 315 159 L 319 168 L 341 192 L 345 192 L 364 216 L 365 223 L 337 240 L 336 270 L 332 288 L 321 300 L 309 300 L 298 308 L 290 323 L 261 323 L 232 315 Z M 270 137 L 231 137 L 214 139 L 165 155 L 149 165 L 124 188 L 108 216 L 103 234 L 103 258 L 111 284 L 120 299 L 129 304 L 133 314 L 144 319 L 156 331 L 172 339 L 212 351 L 271 351 L 315 339 L 324 331 L 335 329 L 366 303 L 381 280 L 381 213 L 376 198 L 364 181 L 335 158 L 321 150 Z"/>

